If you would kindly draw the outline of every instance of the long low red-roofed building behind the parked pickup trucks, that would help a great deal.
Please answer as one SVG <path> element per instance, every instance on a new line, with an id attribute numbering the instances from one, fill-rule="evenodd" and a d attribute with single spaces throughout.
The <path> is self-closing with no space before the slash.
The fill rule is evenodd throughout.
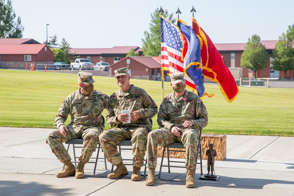
<path id="1" fill-rule="evenodd" d="M 106 62 L 112 65 L 125 58 L 131 49 L 143 55 L 139 46 L 114 46 L 112 48 L 71 48 L 70 52 L 75 53 L 79 58 L 87 58 L 94 64 Z"/>

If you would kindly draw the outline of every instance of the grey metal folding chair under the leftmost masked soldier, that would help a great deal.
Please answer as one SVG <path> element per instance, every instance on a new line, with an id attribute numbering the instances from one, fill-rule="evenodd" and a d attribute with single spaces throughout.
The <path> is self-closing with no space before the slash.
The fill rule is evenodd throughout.
<path id="1" fill-rule="evenodd" d="M 104 117 L 102 116 L 102 119 L 103 119 L 103 124 L 105 124 L 105 119 L 104 119 Z M 77 158 L 79 158 L 79 157 L 77 157 L 76 156 L 76 148 L 83 148 L 82 146 L 75 146 L 75 144 L 76 145 L 78 145 L 78 144 L 81 144 L 81 145 L 83 145 L 83 139 L 72 139 L 72 140 L 68 140 L 68 141 L 66 141 L 65 143 L 66 144 L 68 144 L 68 146 L 67 146 L 67 151 L 69 151 L 69 145 L 73 145 L 73 150 L 74 150 L 74 161 L 71 161 L 72 163 L 75 163 L 75 166 L 76 166 L 76 163 L 79 163 L 79 161 L 77 161 L 76 159 Z M 98 143 L 98 145 L 97 145 L 97 147 L 98 147 L 98 150 L 96 150 L 97 151 L 97 156 L 96 156 L 96 160 L 95 161 L 89 161 L 88 163 L 95 163 L 95 166 L 94 166 L 94 171 L 93 171 L 93 175 L 95 175 L 95 172 L 96 172 L 96 166 L 97 166 L 97 163 L 98 163 L 98 156 L 99 156 L 99 152 L 100 152 L 100 144 Z M 103 153 L 103 155 L 104 155 L 104 153 Z M 90 158 L 90 159 L 94 159 L 94 158 Z M 105 155 L 104 155 L 104 164 L 105 164 L 105 169 L 107 170 L 107 165 L 106 165 L 106 158 L 105 158 Z M 63 166 L 64 167 L 64 166 Z"/>

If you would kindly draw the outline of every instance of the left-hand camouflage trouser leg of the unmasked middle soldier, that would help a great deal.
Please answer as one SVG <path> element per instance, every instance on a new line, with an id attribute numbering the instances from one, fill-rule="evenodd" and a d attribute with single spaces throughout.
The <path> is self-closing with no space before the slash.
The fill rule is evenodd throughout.
<path id="1" fill-rule="evenodd" d="M 117 150 L 116 144 L 127 139 L 128 136 L 125 131 L 116 128 L 108 129 L 99 136 L 100 145 L 103 149 L 105 157 L 112 165 L 118 165 L 122 162 L 122 158 Z"/>

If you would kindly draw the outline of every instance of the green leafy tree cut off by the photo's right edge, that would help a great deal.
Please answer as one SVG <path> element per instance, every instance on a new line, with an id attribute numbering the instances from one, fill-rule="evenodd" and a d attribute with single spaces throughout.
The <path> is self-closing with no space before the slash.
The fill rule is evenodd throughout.
<path id="1" fill-rule="evenodd" d="M 279 36 L 271 62 L 274 70 L 285 71 L 285 78 L 288 70 L 294 70 L 294 24 L 288 28 L 286 34 Z"/>

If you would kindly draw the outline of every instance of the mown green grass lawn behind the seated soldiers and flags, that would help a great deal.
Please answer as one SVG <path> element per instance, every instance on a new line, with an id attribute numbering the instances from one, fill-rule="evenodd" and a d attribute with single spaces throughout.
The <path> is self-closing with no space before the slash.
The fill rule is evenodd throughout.
<path id="1" fill-rule="evenodd" d="M 107 95 L 118 89 L 112 77 L 93 78 L 94 89 Z M 131 79 L 131 83 L 144 88 L 159 108 L 161 81 Z M 0 69 L 0 84 L 3 127 L 53 128 L 62 101 L 79 87 L 76 74 L 5 69 Z M 172 88 L 168 82 L 164 86 L 167 96 Z M 207 84 L 205 88 L 215 96 L 203 98 L 209 114 L 203 133 L 294 136 L 293 88 L 239 87 L 239 95 L 232 103 L 223 98 L 218 85 Z M 153 118 L 153 129 L 158 128 L 156 119 L 157 116 Z"/>

